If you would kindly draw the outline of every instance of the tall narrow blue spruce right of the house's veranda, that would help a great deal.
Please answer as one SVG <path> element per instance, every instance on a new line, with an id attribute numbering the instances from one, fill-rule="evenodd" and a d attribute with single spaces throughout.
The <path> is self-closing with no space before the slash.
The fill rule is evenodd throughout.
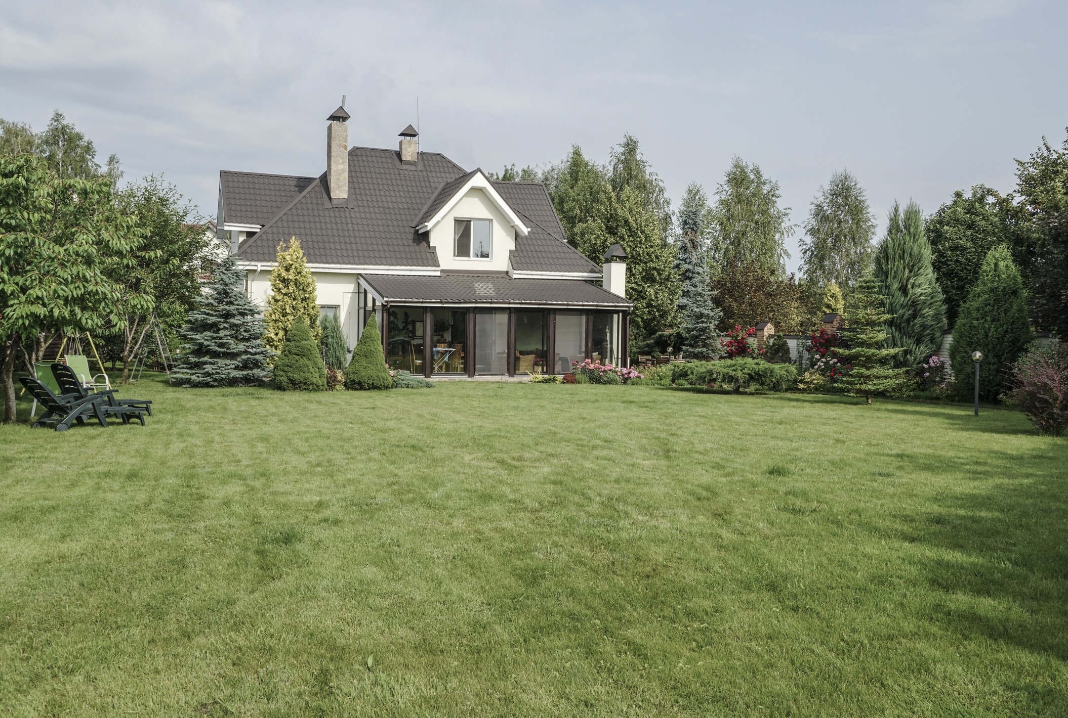
<path id="1" fill-rule="evenodd" d="M 700 185 L 686 188 L 678 210 L 678 246 L 675 271 L 682 283 L 678 300 L 681 315 L 679 334 L 682 335 L 682 356 L 694 360 L 714 360 L 723 353 L 720 346 L 719 324 L 723 312 L 712 303 L 711 277 L 705 251 L 704 228 L 708 200 Z"/>

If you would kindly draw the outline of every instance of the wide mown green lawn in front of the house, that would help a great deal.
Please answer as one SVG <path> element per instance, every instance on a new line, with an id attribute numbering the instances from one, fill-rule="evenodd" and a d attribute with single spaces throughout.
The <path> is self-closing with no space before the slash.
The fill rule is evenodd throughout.
<path id="1" fill-rule="evenodd" d="M 1019 413 L 123 394 L 0 427 L 2 715 L 1068 715 L 1068 440 Z"/>

